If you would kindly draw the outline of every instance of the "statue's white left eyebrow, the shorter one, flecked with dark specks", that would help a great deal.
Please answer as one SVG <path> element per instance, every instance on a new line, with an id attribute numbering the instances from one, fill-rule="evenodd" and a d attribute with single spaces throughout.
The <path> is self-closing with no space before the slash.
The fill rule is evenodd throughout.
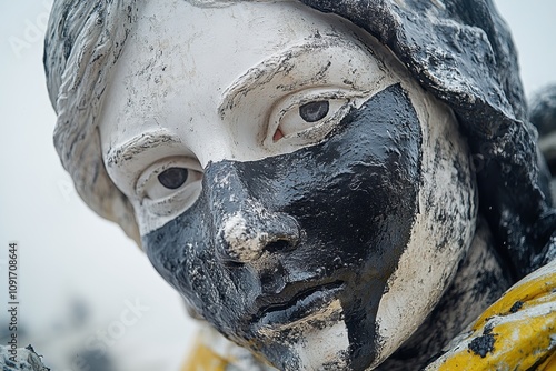
<path id="1" fill-rule="evenodd" d="M 128 141 L 110 148 L 106 156 L 107 167 L 120 167 L 140 156 L 143 152 L 151 151 L 159 146 L 181 144 L 181 140 L 175 134 L 157 130 L 153 132 L 143 132 Z"/>

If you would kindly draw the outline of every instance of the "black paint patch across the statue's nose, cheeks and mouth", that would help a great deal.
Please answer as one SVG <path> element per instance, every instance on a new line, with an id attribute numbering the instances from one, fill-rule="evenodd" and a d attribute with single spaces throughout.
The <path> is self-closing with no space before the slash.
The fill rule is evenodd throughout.
<path id="1" fill-rule="evenodd" d="M 338 299 L 350 367 L 363 370 L 416 214 L 420 142 L 409 98 L 391 86 L 320 144 L 209 164 L 196 203 L 143 245 L 205 319 L 280 369 L 296 369 L 288 344 L 299 337 L 282 324 Z M 262 325 L 277 335 L 262 337 Z"/>

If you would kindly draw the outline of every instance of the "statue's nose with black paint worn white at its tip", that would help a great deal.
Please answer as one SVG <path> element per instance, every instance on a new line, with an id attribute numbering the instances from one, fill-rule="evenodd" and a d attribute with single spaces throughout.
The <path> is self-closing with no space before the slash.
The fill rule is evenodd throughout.
<path id="1" fill-rule="evenodd" d="M 236 263 L 252 262 L 264 252 L 285 252 L 299 240 L 299 225 L 292 217 L 270 210 L 265 200 L 252 195 L 248 184 L 261 183 L 244 168 L 229 161 L 211 164 L 203 184 L 210 199 L 217 254 Z"/>

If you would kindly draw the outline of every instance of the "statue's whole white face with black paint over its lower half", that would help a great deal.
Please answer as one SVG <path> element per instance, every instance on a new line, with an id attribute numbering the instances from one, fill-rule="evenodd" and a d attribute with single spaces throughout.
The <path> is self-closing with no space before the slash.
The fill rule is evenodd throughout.
<path id="1" fill-rule="evenodd" d="M 449 109 L 297 2 L 148 1 L 99 118 L 143 248 L 280 369 L 367 369 L 430 312 L 474 233 Z"/>

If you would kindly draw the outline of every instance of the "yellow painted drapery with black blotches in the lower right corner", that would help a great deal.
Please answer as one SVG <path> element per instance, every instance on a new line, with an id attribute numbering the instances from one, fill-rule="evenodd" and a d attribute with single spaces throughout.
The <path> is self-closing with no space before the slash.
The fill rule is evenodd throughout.
<path id="1" fill-rule="evenodd" d="M 556 261 L 513 285 L 426 368 L 448 370 L 556 370 Z"/>

